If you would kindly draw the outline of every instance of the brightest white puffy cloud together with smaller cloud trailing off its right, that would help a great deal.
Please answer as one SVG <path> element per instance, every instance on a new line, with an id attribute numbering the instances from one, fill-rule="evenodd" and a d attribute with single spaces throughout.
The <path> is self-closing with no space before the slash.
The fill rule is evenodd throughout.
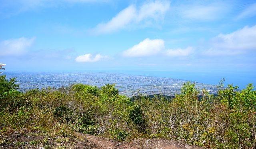
<path id="1" fill-rule="evenodd" d="M 146 38 L 139 44 L 123 52 L 124 57 L 146 57 L 146 56 L 170 56 L 170 57 L 186 57 L 194 52 L 194 48 L 185 49 L 165 49 L 164 40 Z"/>

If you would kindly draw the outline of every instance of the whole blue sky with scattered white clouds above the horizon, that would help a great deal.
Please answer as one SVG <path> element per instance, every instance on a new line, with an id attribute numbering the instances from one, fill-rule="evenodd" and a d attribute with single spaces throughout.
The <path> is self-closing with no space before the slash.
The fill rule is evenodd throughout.
<path id="1" fill-rule="evenodd" d="M 255 0 L 0 0 L 8 71 L 254 73 L 255 57 Z"/>

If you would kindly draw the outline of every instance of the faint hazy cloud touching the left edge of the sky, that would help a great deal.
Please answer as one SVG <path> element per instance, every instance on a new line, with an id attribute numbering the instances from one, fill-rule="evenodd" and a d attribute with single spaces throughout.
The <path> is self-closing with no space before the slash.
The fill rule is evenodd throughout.
<path id="1" fill-rule="evenodd" d="M 25 54 L 35 38 L 18 38 L 0 42 L 0 56 L 20 56 Z"/>

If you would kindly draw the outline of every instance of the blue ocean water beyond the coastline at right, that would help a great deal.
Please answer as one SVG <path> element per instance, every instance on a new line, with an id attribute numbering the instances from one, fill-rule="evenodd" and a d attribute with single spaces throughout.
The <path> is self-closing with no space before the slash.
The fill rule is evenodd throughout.
<path id="1" fill-rule="evenodd" d="M 92 71 L 102 72 L 102 71 Z M 245 89 L 246 85 L 252 83 L 256 87 L 256 71 L 229 71 L 229 72 L 186 72 L 186 71 L 120 71 L 110 70 L 105 72 L 122 73 L 132 75 L 146 75 L 154 77 L 170 77 L 173 79 L 184 79 L 198 83 L 217 85 L 225 78 L 224 85 L 233 84 L 239 89 Z M 255 90 L 255 88 L 254 88 Z"/>

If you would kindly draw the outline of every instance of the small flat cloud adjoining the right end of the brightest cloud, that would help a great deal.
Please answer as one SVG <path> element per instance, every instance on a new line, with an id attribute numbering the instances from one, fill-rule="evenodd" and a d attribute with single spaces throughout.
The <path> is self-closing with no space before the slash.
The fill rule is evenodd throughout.
<path id="1" fill-rule="evenodd" d="M 185 57 L 189 56 L 192 52 L 194 52 L 194 48 L 192 47 L 188 47 L 186 49 L 169 49 L 166 51 L 166 55 L 171 57 Z"/>

